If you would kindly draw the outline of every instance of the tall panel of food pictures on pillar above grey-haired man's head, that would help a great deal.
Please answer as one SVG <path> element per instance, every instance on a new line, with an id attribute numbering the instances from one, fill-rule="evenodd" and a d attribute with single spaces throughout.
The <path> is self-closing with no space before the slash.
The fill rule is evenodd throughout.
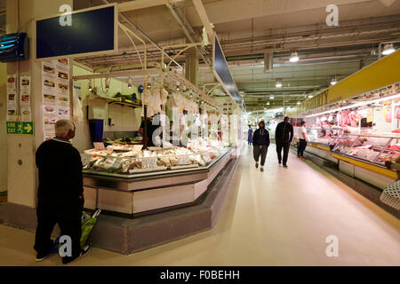
<path id="1" fill-rule="evenodd" d="M 54 124 L 70 119 L 69 59 L 56 59 L 42 63 L 42 108 L 44 139 L 55 136 Z"/>

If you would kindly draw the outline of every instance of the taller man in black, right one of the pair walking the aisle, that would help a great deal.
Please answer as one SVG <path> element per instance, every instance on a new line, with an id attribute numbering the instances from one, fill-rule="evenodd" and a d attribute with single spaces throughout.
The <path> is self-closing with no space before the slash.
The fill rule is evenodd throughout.
<path id="1" fill-rule="evenodd" d="M 284 117 L 284 122 L 280 122 L 276 126 L 275 140 L 276 140 L 276 153 L 278 156 L 279 164 L 284 162 L 284 168 L 287 168 L 287 157 L 289 155 L 289 147 L 293 138 L 293 127 L 289 123 L 289 117 Z M 284 161 L 282 161 L 282 148 L 284 148 Z"/>

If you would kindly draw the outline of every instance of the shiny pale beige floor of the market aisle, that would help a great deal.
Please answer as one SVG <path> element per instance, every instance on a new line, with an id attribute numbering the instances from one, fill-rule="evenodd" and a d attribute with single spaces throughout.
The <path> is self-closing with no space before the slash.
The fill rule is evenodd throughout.
<path id="1" fill-rule="evenodd" d="M 252 147 L 236 171 L 217 225 L 130 256 L 92 248 L 75 265 L 400 265 L 400 221 L 311 162 L 270 146 L 264 172 Z M 339 256 L 328 257 L 328 236 Z M 35 235 L 0 225 L 0 265 L 36 264 Z"/>

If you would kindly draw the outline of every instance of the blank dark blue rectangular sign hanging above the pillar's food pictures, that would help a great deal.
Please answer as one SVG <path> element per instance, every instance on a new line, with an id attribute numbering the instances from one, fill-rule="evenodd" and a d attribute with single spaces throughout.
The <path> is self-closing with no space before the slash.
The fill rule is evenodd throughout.
<path id="1" fill-rule="evenodd" d="M 115 6 L 36 21 L 36 59 L 115 49 Z M 61 16 L 63 17 L 63 16 Z M 66 16 L 64 16 L 66 17 Z"/>

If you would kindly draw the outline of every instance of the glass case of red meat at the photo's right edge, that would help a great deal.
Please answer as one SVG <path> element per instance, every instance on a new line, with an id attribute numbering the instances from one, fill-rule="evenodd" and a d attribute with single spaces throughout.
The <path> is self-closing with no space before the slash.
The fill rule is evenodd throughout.
<path id="1" fill-rule="evenodd" d="M 399 134 L 344 134 L 332 151 L 383 166 L 400 154 Z"/>

